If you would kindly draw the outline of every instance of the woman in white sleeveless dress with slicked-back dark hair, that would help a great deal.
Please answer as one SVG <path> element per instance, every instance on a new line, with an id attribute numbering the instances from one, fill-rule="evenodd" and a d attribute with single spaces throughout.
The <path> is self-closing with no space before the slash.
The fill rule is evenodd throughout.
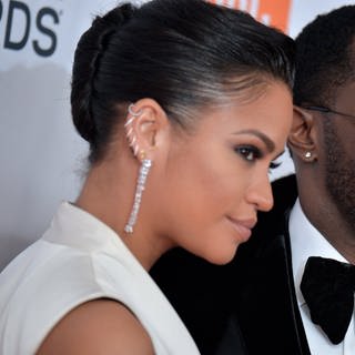
<path id="1" fill-rule="evenodd" d="M 148 271 L 178 245 L 227 263 L 271 209 L 293 49 L 202 0 L 95 19 L 71 94 L 91 168 L 75 203 L 1 275 L 2 354 L 199 354 Z"/>

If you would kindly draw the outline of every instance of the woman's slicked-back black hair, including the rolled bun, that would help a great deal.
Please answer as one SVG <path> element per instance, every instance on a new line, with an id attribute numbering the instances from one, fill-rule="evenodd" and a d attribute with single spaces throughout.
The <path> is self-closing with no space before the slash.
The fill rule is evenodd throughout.
<path id="1" fill-rule="evenodd" d="M 118 104 L 151 98 L 186 126 L 191 109 L 263 81 L 291 88 L 293 57 L 292 39 L 237 10 L 203 0 L 123 4 L 98 17 L 79 41 L 73 121 L 95 162 L 116 126 Z"/>

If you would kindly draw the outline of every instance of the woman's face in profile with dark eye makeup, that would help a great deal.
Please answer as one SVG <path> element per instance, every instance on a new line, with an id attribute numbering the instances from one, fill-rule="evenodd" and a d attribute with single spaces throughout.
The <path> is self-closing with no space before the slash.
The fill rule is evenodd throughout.
<path id="1" fill-rule="evenodd" d="M 172 139 L 160 170 L 156 227 L 172 244 L 224 264 L 248 240 L 256 212 L 273 205 L 268 169 L 285 146 L 292 98 L 271 82 L 254 100 L 199 114 L 192 134 Z"/>

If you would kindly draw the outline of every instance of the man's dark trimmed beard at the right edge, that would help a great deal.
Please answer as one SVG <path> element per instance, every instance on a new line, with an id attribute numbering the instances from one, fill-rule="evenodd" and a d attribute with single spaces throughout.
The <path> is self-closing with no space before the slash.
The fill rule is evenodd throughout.
<path id="1" fill-rule="evenodd" d="M 324 143 L 326 189 L 344 221 L 355 231 L 355 159 L 346 153 L 334 122 L 327 118 L 324 118 Z"/>

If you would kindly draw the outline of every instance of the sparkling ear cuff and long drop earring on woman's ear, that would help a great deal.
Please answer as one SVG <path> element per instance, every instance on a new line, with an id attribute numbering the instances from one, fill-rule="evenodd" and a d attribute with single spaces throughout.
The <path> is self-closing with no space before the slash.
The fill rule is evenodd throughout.
<path id="1" fill-rule="evenodd" d="M 133 151 L 134 156 L 138 156 L 139 146 L 138 146 L 138 143 L 136 143 L 136 138 L 135 138 L 134 132 L 133 132 L 132 122 L 142 112 L 141 111 L 134 112 L 133 111 L 133 103 L 131 103 L 129 105 L 129 110 L 128 111 L 129 111 L 129 118 L 128 118 L 128 121 L 124 124 L 125 130 L 126 130 L 126 138 L 129 140 L 129 143 L 130 143 L 130 146 L 131 146 L 131 149 Z M 148 178 L 148 174 L 149 174 L 150 169 L 152 166 L 152 161 L 150 159 L 145 159 L 144 151 L 140 152 L 140 160 L 141 160 L 141 168 L 140 168 L 138 180 L 136 180 L 136 187 L 135 187 L 133 207 L 132 207 L 129 221 L 124 226 L 124 232 L 125 233 L 130 233 L 130 234 L 133 233 L 133 227 L 134 227 L 134 225 L 136 223 L 136 217 L 138 217 L 138 213 L 140 211 L 141 201 L 142 201 L 142 194 L 143 194 L 143 191 L 145 189 L 146 178 Z"/>

